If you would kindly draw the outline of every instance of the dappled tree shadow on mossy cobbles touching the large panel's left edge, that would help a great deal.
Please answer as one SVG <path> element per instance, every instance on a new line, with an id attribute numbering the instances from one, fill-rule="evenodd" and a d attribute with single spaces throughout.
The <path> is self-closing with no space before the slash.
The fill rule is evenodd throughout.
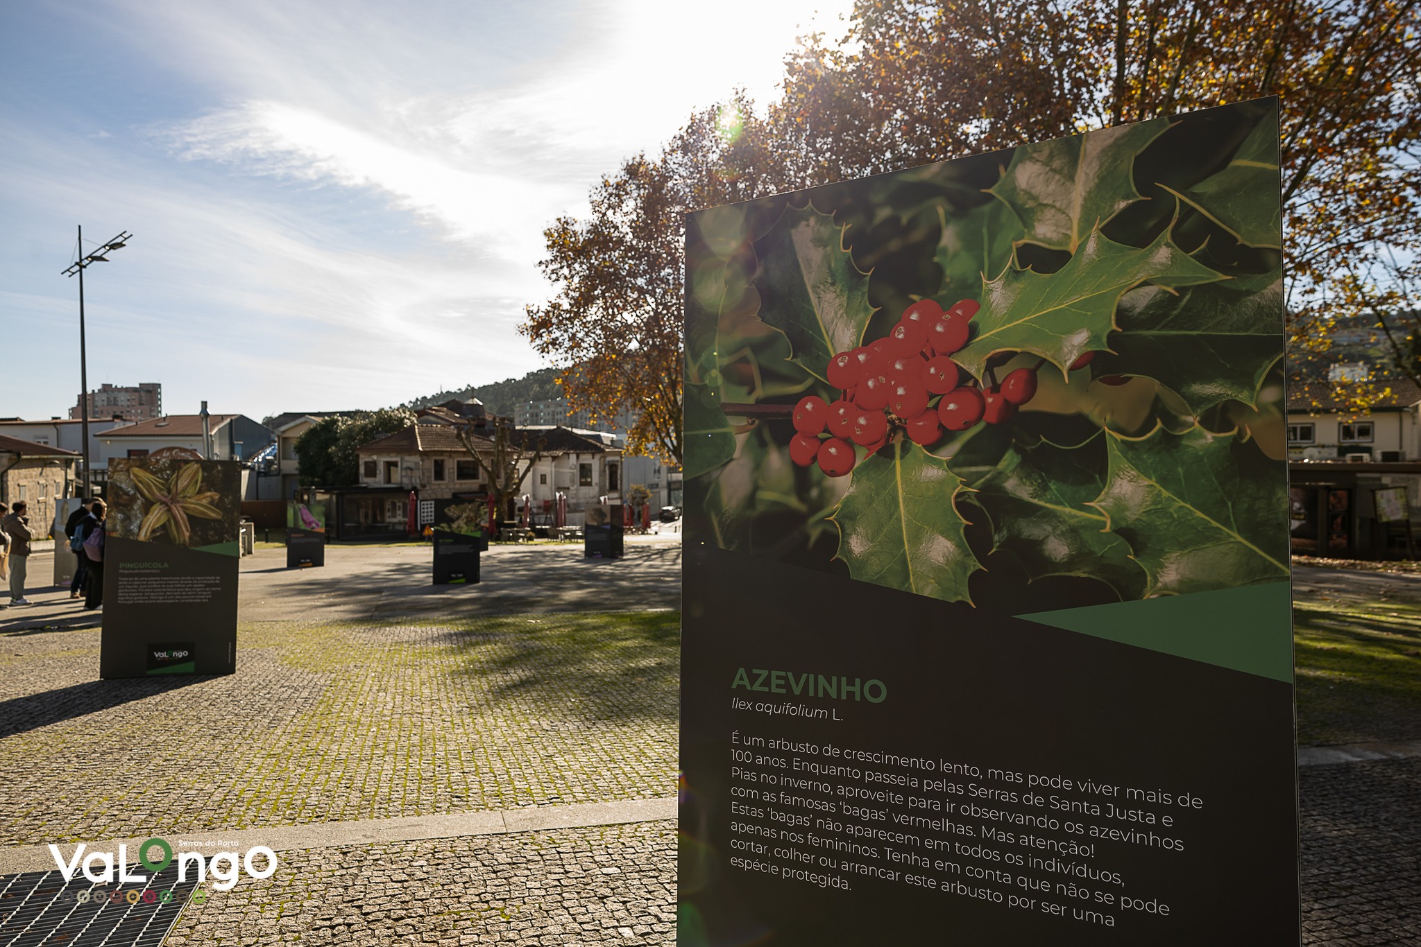
<path id="1" fill-rule="evenodd" d="M 490 618 L 449 632 L 445 646 L 455 673 L 551 723 L 674 724 L 679 714 L 679 612 Z"/>

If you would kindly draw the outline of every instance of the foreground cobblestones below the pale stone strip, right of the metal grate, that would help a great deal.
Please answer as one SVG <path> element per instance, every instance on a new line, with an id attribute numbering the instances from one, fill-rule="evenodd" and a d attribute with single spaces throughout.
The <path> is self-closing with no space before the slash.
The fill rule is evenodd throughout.
<path id="1" fill-rule="evenodd" d="M 169 947 L 675 944 L 675 825 L 300 852 L 189 904 Z"/>

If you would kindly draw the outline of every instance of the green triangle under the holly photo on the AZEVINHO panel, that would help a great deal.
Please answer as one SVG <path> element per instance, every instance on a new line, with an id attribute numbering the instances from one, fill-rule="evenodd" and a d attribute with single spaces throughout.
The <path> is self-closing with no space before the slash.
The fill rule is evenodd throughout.
<path id="1" fill-rule="evenodd" d="M 1292 584 L 1017 615 L 1029 622 L 1293 683 Z"/>

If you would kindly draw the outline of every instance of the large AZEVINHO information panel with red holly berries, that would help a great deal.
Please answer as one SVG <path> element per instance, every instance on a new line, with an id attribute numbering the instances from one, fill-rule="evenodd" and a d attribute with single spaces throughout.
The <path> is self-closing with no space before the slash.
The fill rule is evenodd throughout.
<path id="1" fill-rule="evenodd" d="M 691 214 L 681 944 L 1299 943 L 1277 142 Z"/>

